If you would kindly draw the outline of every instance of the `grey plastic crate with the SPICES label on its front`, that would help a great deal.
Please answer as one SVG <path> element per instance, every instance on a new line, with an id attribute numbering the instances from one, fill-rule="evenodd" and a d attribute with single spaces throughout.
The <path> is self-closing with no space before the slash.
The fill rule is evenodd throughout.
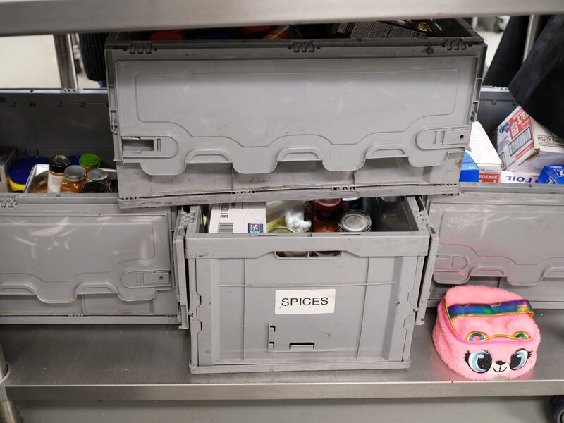
<path id="1" fill-rule="evenodd" d="M 409 366 L 437 242 L 414 197 L 388 207 L 391 223 L 373 220 L 379 231 L 369 233 L 209 234 L 203 215 L 200 206 L 183 212 L 176 238 L 188 258 L 191 372 Z"/>

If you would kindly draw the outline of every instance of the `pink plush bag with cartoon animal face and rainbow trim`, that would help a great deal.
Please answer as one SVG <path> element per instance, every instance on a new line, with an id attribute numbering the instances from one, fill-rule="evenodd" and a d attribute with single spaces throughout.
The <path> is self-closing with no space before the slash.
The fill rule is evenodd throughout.
<path id="1" fill-rule="evenodd" d="M 435 349 L 468 379 L 513 379 L 529 372 L 541 342 L 529 302 L 490 286 L 450 288 L 439 303 Z"/>

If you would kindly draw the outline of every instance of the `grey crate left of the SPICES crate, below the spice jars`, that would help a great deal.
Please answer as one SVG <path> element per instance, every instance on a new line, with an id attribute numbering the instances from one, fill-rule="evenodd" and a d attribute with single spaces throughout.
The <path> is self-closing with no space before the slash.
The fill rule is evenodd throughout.
<path id="1" fill-rule="evenodd" d="M 186 327 L 175 218 L 166 207 L 121 210 L 114 194 L 2 195 L 0 323 Z"/>

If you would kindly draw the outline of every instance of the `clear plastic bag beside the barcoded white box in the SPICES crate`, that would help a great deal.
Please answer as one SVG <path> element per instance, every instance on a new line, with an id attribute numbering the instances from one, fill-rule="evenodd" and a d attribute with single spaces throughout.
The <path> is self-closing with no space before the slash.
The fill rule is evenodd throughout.
<path id="1" fill-rule="evenodd" d="M 266 231 L 286 227 L 293 232 L 308 232 L 312 222 L 305 219 L 306 202 L 302 200 L 266 203 Z"/>

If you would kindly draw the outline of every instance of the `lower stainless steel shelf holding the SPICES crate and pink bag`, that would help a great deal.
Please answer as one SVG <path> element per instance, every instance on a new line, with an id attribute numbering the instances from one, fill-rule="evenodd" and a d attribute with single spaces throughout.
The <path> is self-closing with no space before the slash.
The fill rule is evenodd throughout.
<path id="1" fill-rule="evenodd" d="M 564 394 L 564 312 L 537 312 L 537 366 L 515 381 L 467 381 L 417 326 L 407 370 L 192 375 L 188 332 L 175 326 L 0 326 L 11 400 L 285 400 Z"/>

